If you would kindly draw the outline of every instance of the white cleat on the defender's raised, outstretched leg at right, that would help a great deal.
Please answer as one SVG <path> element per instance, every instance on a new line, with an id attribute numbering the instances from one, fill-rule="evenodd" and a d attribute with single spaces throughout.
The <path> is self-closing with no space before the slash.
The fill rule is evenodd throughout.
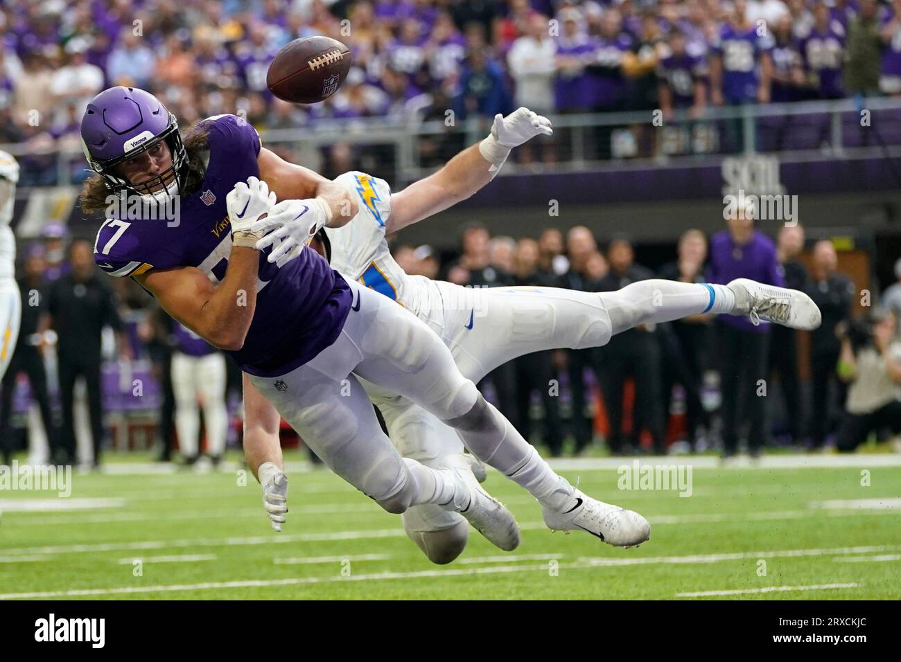
<path id="1" fill-rule="evenodd" d="M 751 317 L 754 326 L 761 320 L 789 329 L 813 331 L 823 316 L 813 299 L 798 290 L 736 278 L 727 286 L 735 294 L 735 310 Z"/>

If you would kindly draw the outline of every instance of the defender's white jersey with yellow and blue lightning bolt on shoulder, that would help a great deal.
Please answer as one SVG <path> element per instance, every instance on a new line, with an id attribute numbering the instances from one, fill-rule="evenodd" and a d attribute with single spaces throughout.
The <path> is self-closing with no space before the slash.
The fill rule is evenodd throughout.
<path id="1" fill-rule="evenodd" d="M 384 179 L 346 172 L 335 179 L 356 197 L 359 212 L 341 228 L 325 228 L 332 244 L 332 268 L 386 295 L 415 315 L 441 308 L 434 281 L 410 276 L 391 256 L 385 225 L 391 215 L 391 187 Z"/>

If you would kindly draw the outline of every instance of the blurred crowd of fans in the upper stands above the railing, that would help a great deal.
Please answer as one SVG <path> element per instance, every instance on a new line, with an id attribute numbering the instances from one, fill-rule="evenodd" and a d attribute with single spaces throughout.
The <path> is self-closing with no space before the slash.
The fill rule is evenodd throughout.
<path id="1" fill-rule="evenodd" d="M 518 105 L 698 117 L 710 105 L 897 95 L 899 11 L 876 0 L 9 0 L 0 143 L 28 144 L 23 185 L 55 183 L 46 152 L 77 150 L 87 100 L 113 85 L 148 89 L 185 125 L 242 112 L 258 129 Z M 349 45 L 346 83 L 322 104 L 274 99 L 269 60 L 312 34 Z M 335 149 L 339 159 L 347 146 Z M 541 151 L 519 156 L 558 156 Z M 79 159 L 69 175 L 85 177 Z"/>

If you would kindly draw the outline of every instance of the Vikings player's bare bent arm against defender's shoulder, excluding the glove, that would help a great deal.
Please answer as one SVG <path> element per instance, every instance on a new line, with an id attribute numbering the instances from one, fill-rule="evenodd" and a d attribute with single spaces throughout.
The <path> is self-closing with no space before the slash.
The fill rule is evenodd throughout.
<path id="1" fill-rule="evenodd" d="M 257 164 L 259 178 L 279 200 L 299 200 L 314 207 L 311 213 L 322 216 L 322 225 L 340 228 L 357 215 L 357 202 L 347 189 L 310 168 L 289 163 L 265 148 L 259 150 Z"/>

